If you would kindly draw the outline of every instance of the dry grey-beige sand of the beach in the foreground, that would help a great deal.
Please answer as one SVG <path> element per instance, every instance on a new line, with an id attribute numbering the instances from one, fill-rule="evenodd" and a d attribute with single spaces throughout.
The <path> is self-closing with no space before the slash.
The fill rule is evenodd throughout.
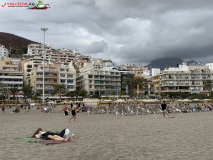
<path id="1" fill-rule="evenodd" d="M 0 114 L 0 159 L 212 159 L 212 113 L 178 113 L 169 119 L 162 114 L 79 113 L 77 121 L 69 123 L 70 115 L 59 111 L 12 114 L 7 109 Z M 50 146 L 13 139 L 31 136 L 39 127 L 46 131 L 69 128 L 79 138 Z"/>

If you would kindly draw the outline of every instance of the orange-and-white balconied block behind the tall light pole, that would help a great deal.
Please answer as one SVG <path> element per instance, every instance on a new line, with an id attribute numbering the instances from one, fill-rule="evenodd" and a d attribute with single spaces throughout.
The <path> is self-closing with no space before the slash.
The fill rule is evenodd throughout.
<path id="1" fill-rule="evenodd" d="M 72 63 L 69 65 L 45 64 L 45 91 L 54 91 L 54 85 L 65 84 L 69 91 L 76 90 L 76 72 Z M 43 64 L 37 66 L 30 73 L 30 82 L 35 92 L 43 91 Z"/>

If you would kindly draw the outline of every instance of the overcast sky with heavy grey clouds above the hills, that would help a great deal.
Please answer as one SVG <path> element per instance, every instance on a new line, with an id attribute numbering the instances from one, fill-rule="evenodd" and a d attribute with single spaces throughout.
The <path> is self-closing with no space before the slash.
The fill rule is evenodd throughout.
<path id="1" fill-rule="evenodd" d="M 2 0 L 5 2 L 15 2 Z M 22 1 L 17 1 L 22 2 Z M 28 1 L 23 2 L 35 2 Z M 178 57 L 213 62 L 212 0 L 45 0 L 47 10 L 0 6 L 0 31 L 117 64 Z"/>

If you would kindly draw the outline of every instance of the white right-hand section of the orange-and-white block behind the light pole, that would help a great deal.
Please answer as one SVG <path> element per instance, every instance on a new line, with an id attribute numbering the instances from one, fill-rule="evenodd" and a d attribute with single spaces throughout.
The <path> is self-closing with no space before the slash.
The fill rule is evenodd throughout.
<path id="1" fill-rule="evenodd" d="M 76 90 L 76 71 L 72 63 L 59 66 L 59 83 L 65 84 L 69 91 Z"/>

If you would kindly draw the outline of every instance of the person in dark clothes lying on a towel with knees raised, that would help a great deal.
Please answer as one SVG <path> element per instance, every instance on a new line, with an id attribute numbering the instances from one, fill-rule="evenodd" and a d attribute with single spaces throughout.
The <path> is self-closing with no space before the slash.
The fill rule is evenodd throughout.
<path id="1" fill-rule="evenodd" d="M 43 132 L 41 128 L 39 128 L 34 134 L 32 137 L 34 138 L 38 138 L 38 139 L 45 139 L 45 140 L 57 140 L 57 141 L 70 141 L 71 140 L 71 137 L 69 138 L 63 138 L 65 132 L 67 131 L 68 129 L 64 129 L 62 130 L 60 133 L 53 133 L 53 132 L 50 132 L 50 131 L 47 131 L 47 132 Z"/>

